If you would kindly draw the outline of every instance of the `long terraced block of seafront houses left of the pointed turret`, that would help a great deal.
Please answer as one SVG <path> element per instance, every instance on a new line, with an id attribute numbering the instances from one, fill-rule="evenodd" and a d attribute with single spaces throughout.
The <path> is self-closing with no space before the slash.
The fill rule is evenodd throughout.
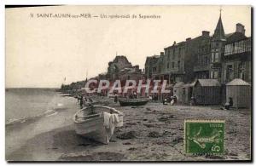
<path id="1" fill-rule="evenodd" d="M 210 41 L 209 31 L 202 31 L 199 37 L 174 42 L 160 56 L 147 57 L 146 77 L 166 79 L 172 84 L 209 77 Z"/>

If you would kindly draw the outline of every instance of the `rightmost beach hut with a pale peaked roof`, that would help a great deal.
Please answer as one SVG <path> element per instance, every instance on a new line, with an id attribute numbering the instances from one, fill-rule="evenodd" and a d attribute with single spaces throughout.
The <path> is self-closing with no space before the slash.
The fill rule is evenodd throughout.
<path id="1" fill-rule="evenodd" d="M 226 101 L 233 100 L 233 106 L 236 108 L 248 108 L 251 106 L 251 85 L 236 78 L 226 84 Z"/>

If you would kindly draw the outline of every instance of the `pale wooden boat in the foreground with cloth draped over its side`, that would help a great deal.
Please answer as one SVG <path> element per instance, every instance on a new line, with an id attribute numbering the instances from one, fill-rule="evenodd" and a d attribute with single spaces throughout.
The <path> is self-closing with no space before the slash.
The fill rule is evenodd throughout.
<path id="1" fill-rule="evenodd" d="M 73 116 L 76 133 L 86 138 L 108 144 L 113 132 L 104 126 L 104 112 L 117 114 L 119 123 L 117 123 L 116 127 L 123 126 L 124 114 L 122 112 L 108 106 L 88 106 L 79 110 Z"/>

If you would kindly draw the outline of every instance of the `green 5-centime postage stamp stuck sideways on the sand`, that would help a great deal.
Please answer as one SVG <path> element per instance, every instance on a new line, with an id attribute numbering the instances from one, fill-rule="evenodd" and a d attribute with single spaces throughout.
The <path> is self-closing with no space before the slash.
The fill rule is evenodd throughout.
<path id="1" fill-rule="evenodd" d="M 185 120 L 186 153 L 224 153 L 224 120 Z"/>

